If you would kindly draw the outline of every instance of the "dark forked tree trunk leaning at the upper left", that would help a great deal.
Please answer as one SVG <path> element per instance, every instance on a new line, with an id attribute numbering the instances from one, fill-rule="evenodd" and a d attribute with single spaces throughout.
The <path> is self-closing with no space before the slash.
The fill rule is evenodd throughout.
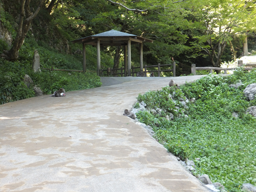
<path id="1" fill-rule="evenodd" d="M 12 48 L 6 52 L 7 60 L 13 61 L 18 59 L 18 51 L 20 47 L 22 47 L 23 45 L 24 39 L 29 30 L 30 23 L 32 22 L 32 19 L 35 18 L 35 16 L 37 15 L 37 13 L 41 8 L 42 3 L 44 2 L 45 0 L 41 0 L 40 4 L 38 5 L 36 11 L 33 14 L 30 12 L 30 7 L 29 7 L 30 0 L 22 0 L 20 2 L 20 14 L 19 14 L 19 24 L 17 29 L 17 35 L 13 42 Z"/>

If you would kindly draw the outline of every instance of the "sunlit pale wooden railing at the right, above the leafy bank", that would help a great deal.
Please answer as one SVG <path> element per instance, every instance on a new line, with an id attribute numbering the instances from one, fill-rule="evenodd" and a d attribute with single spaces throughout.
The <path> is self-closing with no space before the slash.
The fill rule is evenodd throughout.
<path id="1" fill-rule="evenodd" d="M 249 63 L 244 63 L 243 65 L 243 60 L 238 61 L 238 67 L 244 67 L 244 70 L 252 70 L 253 67 L 256 66 L 256 62 L 249 62 Z M 224 74 L 227 74 L 228 70 L 235 70 L 237 68 L 217 68 L 217 67 L 196 67 L 196 64 L 191 65 L 191 73 L 196 75 L 196 70 L 210 70 L 210 73 L 212 73 L 212 70 L 219 70 L 219 71 L 224 71 Z"/>

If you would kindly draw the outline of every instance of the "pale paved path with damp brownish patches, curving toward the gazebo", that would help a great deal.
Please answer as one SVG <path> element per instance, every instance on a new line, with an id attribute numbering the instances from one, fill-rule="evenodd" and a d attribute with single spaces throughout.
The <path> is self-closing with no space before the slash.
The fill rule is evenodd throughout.
<path id="1" fill-rule="evenodd" d="M 199 77 L 174 79 L 181 84 Z M 0 191 L 206 192 L 122 115 L 139 93 L 159 90 L 170 78 L 134 79 L 0 105 Z"/>

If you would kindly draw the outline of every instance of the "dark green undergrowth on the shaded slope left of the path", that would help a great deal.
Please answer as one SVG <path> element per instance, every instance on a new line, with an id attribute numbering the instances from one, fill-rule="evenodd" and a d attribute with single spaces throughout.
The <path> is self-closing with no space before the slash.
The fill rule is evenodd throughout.
<path id="1" fill-rule="evenodd" d="M 6 43 L 0 40 L 0 52 L 5 47 L 7 47 Z M 20 49 L 17 61 L 0 58 L 0 104 L 34 97 L 33 86 L 39 87 L 43 94 L 53 94 L 59 88 L 69 92 L 101 86 L 100 77 L 96 72 L 83 74 L 41 70 L 41 73 L 34 73 L 32 60 L 35 49 L 39 51 L 41 68 L 82 70 L 81 61 L 76 56 L 58 53 L 49 47 L 38 46 L 33 39 L 27 40 Z M 89 65 L 88 69 L 94 70 L 94 66 Z M 29 88 L 24 83 L 26 74 L 33 80 L 33 85 Z"/>

